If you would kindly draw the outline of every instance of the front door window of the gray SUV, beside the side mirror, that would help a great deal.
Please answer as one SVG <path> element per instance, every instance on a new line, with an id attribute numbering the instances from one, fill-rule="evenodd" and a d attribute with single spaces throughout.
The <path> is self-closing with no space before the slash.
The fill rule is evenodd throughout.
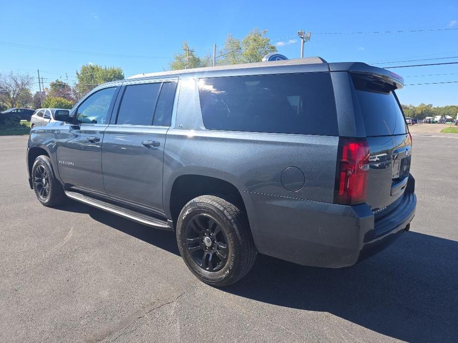
<path id="1" fill-rule="evenodd" d="M 116 87 L 104 88 L 84 100 L 76 114 L 78 123 L 105 124 L 115 90 Z"/>

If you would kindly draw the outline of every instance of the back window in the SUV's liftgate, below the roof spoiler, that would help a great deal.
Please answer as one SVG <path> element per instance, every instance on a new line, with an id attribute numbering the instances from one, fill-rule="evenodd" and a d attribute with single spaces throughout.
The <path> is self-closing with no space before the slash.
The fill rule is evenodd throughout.
<path id="1" fill-rule="evenodd" d="M 353 74 L 352 78 L 366 135 L 407 133 L 406 121 L 394 95 L 395 87 L 371 76 Z"/>

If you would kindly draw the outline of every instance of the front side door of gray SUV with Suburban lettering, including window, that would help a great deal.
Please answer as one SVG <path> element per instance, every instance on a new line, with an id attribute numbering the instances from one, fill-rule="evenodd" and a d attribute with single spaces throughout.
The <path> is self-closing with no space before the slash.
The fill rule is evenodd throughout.
<path id="1" fill-rule="evenodd" d="M 57 166 L 67 186 L 105 194 L 102 140 L 117 91 L 109 87 L 91 94 L 78 106 L 74 124 L 58 134 Z"/>

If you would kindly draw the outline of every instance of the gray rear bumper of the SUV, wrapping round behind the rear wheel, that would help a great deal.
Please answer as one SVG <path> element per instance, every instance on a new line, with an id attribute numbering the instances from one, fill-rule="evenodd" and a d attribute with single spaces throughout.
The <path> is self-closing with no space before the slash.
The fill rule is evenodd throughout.
<path id="1" fill-rule="evenodd" d="M 343 206 L 266 194 L 242 194 L 259 253 L 294 263 L 339 268 L 355 264 L 409 229 L 416 196 L 375 220 L 366 204 Z"/>

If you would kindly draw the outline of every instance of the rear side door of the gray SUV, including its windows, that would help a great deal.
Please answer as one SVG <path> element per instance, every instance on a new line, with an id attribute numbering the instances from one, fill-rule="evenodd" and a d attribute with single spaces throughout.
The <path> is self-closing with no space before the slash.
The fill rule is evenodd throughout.
<path id="1" fill-rule="evenodd" d="M 114 199 L 163 214 L 162 165 L 176 81 L 123 86 L 105 130 L 102 166 L 105 190 Z"/>

